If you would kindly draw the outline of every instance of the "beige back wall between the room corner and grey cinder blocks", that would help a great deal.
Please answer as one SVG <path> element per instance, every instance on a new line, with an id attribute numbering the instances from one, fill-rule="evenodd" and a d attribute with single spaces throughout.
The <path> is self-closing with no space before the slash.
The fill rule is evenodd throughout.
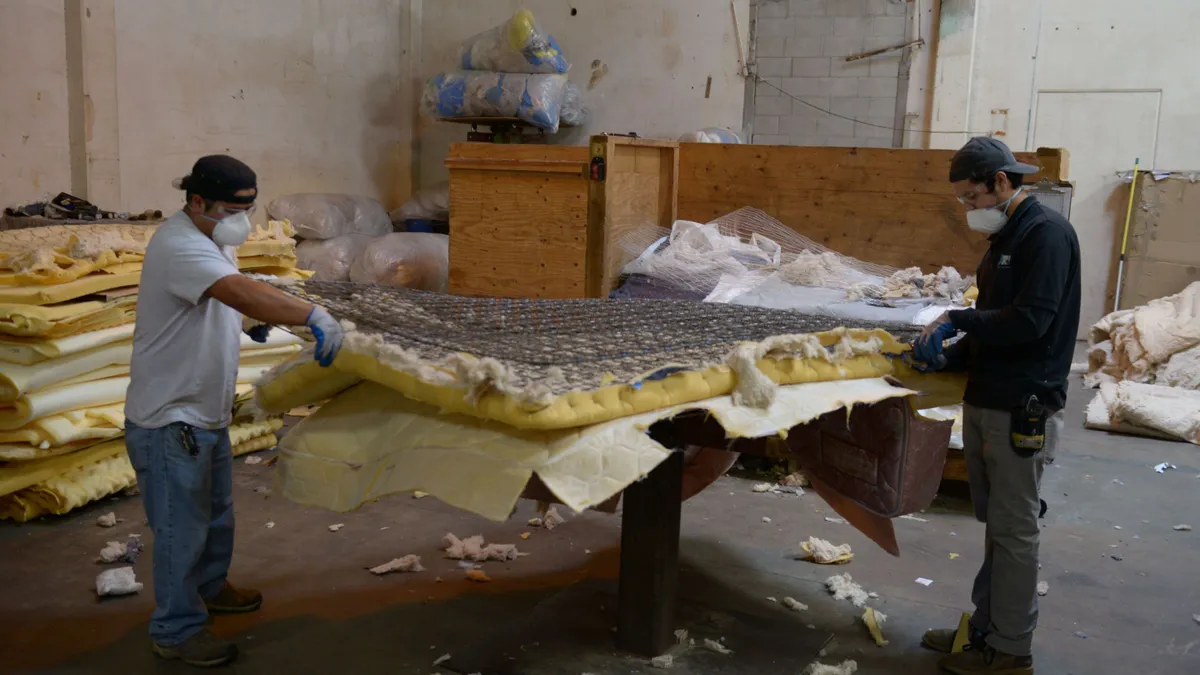
<path id="1" fill-rule="evenodd" d="M 734 5 L 748 46 L 749 0 Z M 727 0 L 430 1 L 422 10 L 420 72 L 452 70 L 463 40 L 521 7 L 554 35 L 592 112 L 586 126 L 564 127 L 554 143 L 581 145 L 599 132 L 677 138 L 707 126 L 742 129 L 745 80 Z M 596 68 L 607 74 L 593 78 Z M 418 124 L 419 183 L 432 185 L 446 179 L 448 147 L 464 141 L 468 127 L 424 117 Z"/>

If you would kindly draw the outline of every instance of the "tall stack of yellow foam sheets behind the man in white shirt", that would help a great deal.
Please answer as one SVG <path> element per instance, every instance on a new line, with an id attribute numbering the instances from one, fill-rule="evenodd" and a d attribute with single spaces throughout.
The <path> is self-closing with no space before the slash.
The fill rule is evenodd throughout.
<path id="1" fill-rule="evenodd" d="M 0 519 L 62 514 L 130 488 L 125 392 L 138 281 L 155 225 L 47 226 L 0 233 Z M 245 271 L 302 279 L 290 225 L 257 228 Z M 278 333 L 278 331 L 276 331 Z M 239 394 L 300 351 L 278 334 L 242 341 Z M 280 419 L 241 420 L 236 450 L 272 447 Z"/>

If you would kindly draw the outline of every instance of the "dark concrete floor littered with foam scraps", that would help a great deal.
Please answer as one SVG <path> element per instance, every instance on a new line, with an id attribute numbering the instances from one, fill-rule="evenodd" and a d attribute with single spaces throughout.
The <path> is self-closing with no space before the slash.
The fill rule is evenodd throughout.
<path id="1" fill-rule="evenodd" d="M 1200 622 L 1193 620 L 1200 614 L 1200 531 L 1172 530 L 1182 522 L 1200 530 L 1200 449 L 1084 430 L 1081 410 L 1090 393 L 1078 383 L 1073 393 L 1058 461 L 1045 479 L 1050 512 L 1042 579 L 1050 593 L 1042 599 L 1037 671 L 1200 673 Z M 1157 474 L 1151 467 L 1160 461 L 1178 470 Z M 256 615 L 217 620 L 215 629 L 242 649 L 232 671 L 437 673 L 432 663 L 440 655 L 469 652 L 497 628 L 535 615 L 541 623 L 532 627 L 533 637 L 511 645 L 520 657 L 512 673 L 650 671 L 643 661 L 616 653 L 604 635 L 612 608 L 600 603 L 616 577 L 618 518 L 584 514 L 553 532 L 534 530 L 522 542 L 528 503 L 505 524 L 407 495 L 334 514 L 256 494 L 256 486 L 270 484 L 272 471 L 236 468 L 233 579 L 262 589 L 266 604 Z M 683 522 L 682 593 L 708 611 L 690 623 L 692 633 L 725 637 L 740 653 L 692 652 L 676 670 L 794 675 L 833 634 L 827 663 L 854 658 L 866 674 L 936 673 L 937 656 L 917 643 L 929 627 L 954 625 L 968 607 L 983 526 L 954 508 L 930 509 L 923 515 L 928 522 L 898 520 L 904 555 L 893 558 L 851 527 L 827 522 L 829 512 L 816 495 L 761 495 L 750 485 L 722 478 L 684 506 Z M 124 522 L 102 530 L 95 519 L 108 510 Z M 145 534 L 143 522 L 132 497 L 0 527 L 0 671 L 188 671 L 149 652 L 148 554 L 136 566 L 148 584 L 140 595 L 96 602 L 92 592 L 100 571 L 92 560 L 104 542 Z M 336 522 L 346 527 L 330 532 Z M 438 555 L 448 531 L 516 542 L 532 555 L 488 563 L 493 581 L 470 584 L 456 563 Z M 834 569 L 792 560 L 797 543 L 810 534 L 852 544 L 853 562 Z M 428 571 L 376 578 L 364 569 L 409 552 L 424 556 Z M 1115 554 L 1123 560 L 1114 560 Z M 884 628 L 890 645 L 875 646 L 858 621 L 862 611 L 823 591 L 822 581 L 839 572 L 880 593 L 876 607 L 890 616 Z M 918 577 L 934 584 L 918 585 Z M 594 593 L 560 595 L 586 580 Z M 792 596 L 811 609 L 788 613 L 768 596 Z M 565 599 L 556 604 L 554 597 Z M 696 619 L 695 611 L 683 614 Z M 581 638 L 590 640 L 587 647 L 572 643 L 571 626 L 583 625 L 590 626 Z M 756 640 L 751 629 L 772 634 Z"/>

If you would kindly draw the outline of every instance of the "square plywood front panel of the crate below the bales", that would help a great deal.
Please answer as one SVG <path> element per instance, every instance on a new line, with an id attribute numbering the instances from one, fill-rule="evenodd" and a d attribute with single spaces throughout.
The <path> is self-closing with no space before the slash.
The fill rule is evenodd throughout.
<path id="1" fill-rule="evenodd" d="M 583 298 L 588 149 L 456 143 L 450 169 L 450 292 Z"/>

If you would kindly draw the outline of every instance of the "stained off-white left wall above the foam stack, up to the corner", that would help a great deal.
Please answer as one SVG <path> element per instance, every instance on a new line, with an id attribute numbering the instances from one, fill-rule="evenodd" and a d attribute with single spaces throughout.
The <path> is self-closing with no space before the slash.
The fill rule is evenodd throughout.
<path id="1" fill-rule="evenodd" d="M 403 201 L 413 74 L 406 0 L 12 0 L 0 6 L 0 204 L 71 191 L 174 209 L 203 154 L 263 199 Z M 16 58 L 16 60 L 11 60 Z"/>

